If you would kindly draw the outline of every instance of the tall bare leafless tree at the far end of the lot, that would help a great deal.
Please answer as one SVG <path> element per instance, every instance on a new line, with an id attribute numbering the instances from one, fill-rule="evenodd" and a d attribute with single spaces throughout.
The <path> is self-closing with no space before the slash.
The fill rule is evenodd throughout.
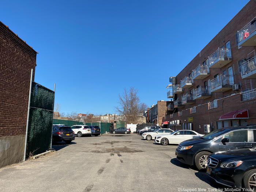
<path id="1" fill-rule="evenodd" d="M 137 121 L 140 106 L 137 93 L 138 90 L 131 87 L 128 91 L 124 89 L 124 93 L 119 95 L 119 106 L 116 107 L 116 110 L 126 118 L 128 124 Z"/>

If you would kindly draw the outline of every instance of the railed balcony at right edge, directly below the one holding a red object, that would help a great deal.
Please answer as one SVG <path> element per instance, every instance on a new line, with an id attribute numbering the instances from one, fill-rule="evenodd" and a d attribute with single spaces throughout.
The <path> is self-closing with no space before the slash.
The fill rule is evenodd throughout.
<path id="1" fill-rule="evenodd" d="M 256 79 L 256 56 L 241 64 L 242 79 Z"/>

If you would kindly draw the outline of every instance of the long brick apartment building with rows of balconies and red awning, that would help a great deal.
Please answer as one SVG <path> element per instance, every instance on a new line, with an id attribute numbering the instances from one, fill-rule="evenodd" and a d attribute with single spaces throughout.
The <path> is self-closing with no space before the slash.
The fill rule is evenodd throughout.
<path id="1" fill-rule="evenodd" d="M 214 22 L 214 21 L 209 21 Z M 216 21 L 215 21 L 216 22 Z M 256 2 L 251 0 L 182 71 L 170 77 L 173 129 L 205 133 L 256 124 Z M 173 74 L 175 75 L 175 74 Z"/>

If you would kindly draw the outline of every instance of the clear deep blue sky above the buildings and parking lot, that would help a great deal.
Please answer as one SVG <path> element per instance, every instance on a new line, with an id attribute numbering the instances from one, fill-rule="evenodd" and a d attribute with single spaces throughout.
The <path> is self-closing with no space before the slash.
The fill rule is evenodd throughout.
<path id="1" fill-rule="evenodd" d="M 2 1 L 1 21 L 32 46 L 35 81 L 64 113 L 114 113 L 124 88 L 148 106 L 248 0 Z"/>

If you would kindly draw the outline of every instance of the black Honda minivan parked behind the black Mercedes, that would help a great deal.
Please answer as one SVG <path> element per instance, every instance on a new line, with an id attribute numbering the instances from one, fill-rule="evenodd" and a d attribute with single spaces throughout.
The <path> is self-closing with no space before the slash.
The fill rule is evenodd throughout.
<path id="1" fill-rule="evenodd" d="M 256 125 L 222 128 L 180 143 L 176 149 L 176 157 L 180 162 L 195 165 L 202 170 L 206 169 L 210 154 L 235 148 L 256 147 L 255 142 Z"/>

